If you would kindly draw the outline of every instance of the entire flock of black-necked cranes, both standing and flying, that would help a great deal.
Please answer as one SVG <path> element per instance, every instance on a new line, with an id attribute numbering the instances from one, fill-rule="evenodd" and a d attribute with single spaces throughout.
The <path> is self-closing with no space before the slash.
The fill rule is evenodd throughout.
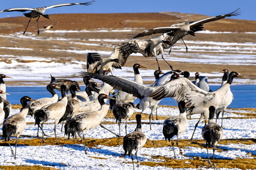
<path id="1" fill-rule="evenodd" d="M 45 11 L 48 8 L 56 8 L 61 6 L 72 6 L 72 5 L 92 5 L 95 0 L 85 2 L 85 3 L 65 3 L 50 5 L 48 7 L 41 8 L 9 8 L 0 10 L 0 12 L 12 12 L 20 11 L 25 12 L 30 10 L 29 13 L 24 13 L 25 17 L 29 17 L 29 22 L 32 18 L 46 17 L 49 19 L 48 15 L 45 15 Z M 195 36 L 195 32 L 203 30 L 203 24 L 208 22 L 217 21 L 225 17 L 237 16 L 239 14 L 239 8 L 231 13 L 225 15 L 219 15 L 216 17 L 208 17 L 200 19 L 193 22 L 182 22 L 173 24 L 169 27 L 157 27 L 151 30 L 145 31 L 143 33 L 134 34 L 130 36 L 127 42 L 121 42 L 114 46 L 112 53 L 108 57 L 102 57 L 97 52 L 87 53 L 87 72 L 81 71 L 80 76 L 84 77 L 85 85 L 87 86 L 85 92 L 81 92 L 80 86 L 76 81 L 69 79 L 56 79 L 51 76 L 50 84 L 47 85 L 47 90 L 52 94 L 49 98 L 40 98 L 33 100 L 28 96 L 24 96 L 20 99 L 22 104 L 22 109 L 19 113 L 9 117 L 9 112 L 11 110 L 11 105 L 6 100 L 6 87 L 3 78 L 11 78 L 9 76 L 0 74 L 0 121 L 3 121 L 3 137 L 8 142 L 12 135 L 16 136 L 15 143 L 15 153 L 13 152 L 11 146 L 11 153 L 16 159 L 16 148 L 18 143 L 18 138 L 22 131 L 26 127 L 25 117 L 27 115 L 35 117 L 35 125 L 38 125 L 42 131 L 42 141 L 44 141 L 44 136 L 47 136 L 43 131 L 43 124 L 49 120 L 55 120 L 54 133 L 56 137 L 56 127 L 61 121 L 66 120 L 65 124 L 65 135 L 70 137 L 78 136 L 81 137 L 84 147 L 85 154 L 87 154 L 87 149 L 89 147 L 86 143 L 85 133 L 87 130 L 93 129 L 97 126 L 103 127 L 101 125 L 102 119 L 106 116 L 108 112 L 108 107 L 106 105 L 106 100 L 111 99 L 110 109 L 113 110 L 116 122 L 119 125 L 119 135 L 120 123 L 122 119 L 125 119 L 125 132 L 126 135 L 123 137 L 123 149 L 124 156 L 128 152 L 131 155 L 133 161 L 133 150 L 136 150 L 135 156 L 137 159 L 137 167 L 139 167 L 139 161 L 137 158 L 137 152 L 140 148 L 146 144 L 147 138 L 142 133 L 142 113 L 147 108 L 151 109 L 151 114 L 149 116 L 149 123 L 151 129 L 151 119 L 153 112 L 157 109 L 157 105 L 161 99 L 165 97 L 172 97 L 178 102 L 180 115 L 172 116 L 163 122 L 162 133 L 171 145 L 174 152 L 173 136 L 177 136 L 177 146 L 179 146 L 179 138 L 186 131 L 188 127 L 188 120 L 186 117 L 192 114 L 200 114 L 201 117 L 197 124 L 195 125 L 194 132 L 199 122 L 202 119 L 207 120 L 209 118 L 209 124 L 206 124 L 202 129 L 202 138 L 206 141 L 207 153 L 208 147 L 214 146 L 213 150 L 213 163 L 214 163 L 214 151 L 216 144 L 223 136 L 222 121 L 221 127 L 217 125 L 213 118 L 214 114 L 219 115 L 222 111 L 222 118 L 224 110 L 233 100 L 233 94 L 230 91 L 230 85 L 233 78 L 240 77 L 237 72 L 232 71 L 228 74 L 227 69 L 223 69 L 221 73 L 224 73 L 222 78 L 222 85 L 216 91 L 211 91 L 207 83 L 206 76 L 199 76 L 199 72 L 195 74 L 195 81 L 191 82 L 188 78 L 190 73 L 188 71 L 183 71 L 176 69 L 173 70 L 173 66 L 169 64 L 163 57 L 164 49 L 169 49 L 169 54 L 171 52 L 172 46 L 179 41 L 183 41 L 185 35 Z M 37 26 L 38 26 L 37 19 Z M 28 25 L 23 34 L 26 33 Z M 45 29 L 52 28 L 53 25 L 45 27 Z M 138 40 L 137 38 L 159 34 L 149 40 Z M 39 28 L 38 28 L 39 35 Z M 183 41 L 184 42 L 184 41 Z M 188 47 L 185 42 L 186 52 L 188 52 Z M 114 76 L 113 68 L 122 68 L 126 63 L 128 57 L 132 53 L 141 53 L 144 57 L 155 57 L 158 65 L 158 70 L 154 72 L 156 81 L 153 85 L 143 85 L 142 76 L 140 75 L 138 68 L 145 68 L 140 64 L 136 63 L 133 65 L 134 80 L 131 81 L 122 76 Z M 161 72 L 160 64 L 158 62 L 157 56 L 161 54 L 161 58 L 170 66 L 171 71 L 167 73 Z M 107 75 L 111 73 L 112 76 Z M 179 73 L 179 74 L 178 74 Z M 160 74 L 163 74 L 160 76 Z M 180 78 L 180 75 L 184 76 Z M 171 78 L 170 78 L 171 77 Z M 101 80 L 103 85 L 100 87 L 95 82 L 89 82 L 91 78 L 96 78 Z M 170 80 L 168 80 L 170 78 Z M 54 91 L 57 89 L 61 91 L 61 98 L 58 99 L 57 93 Z M 110 97 L 115 90 L 113 97 Z M 70 91 L 71 94 L 66 94 Z M 76 91 L 79 91 L 76 93 Z M 133 101 L 139 98 L 141 101 L 137 104 L 137 108 L 141 109 L 141 113 L 136 115 L 137 127 L 134 132 L 127 134 L 127 122 L 133 115 L 133 108 L 136 108 Z M 30 102 L 31 101 L 31 102 Z M 27 103 L 29 102 L 29 103 Z M 105 127 L 104 127 L 105 128 Z M 106 128 L 105 128 L 106 129 Z M 144 127 L 146 129 L 146 127 Z M 108 130 L 108 129 L 107 129 Z M 191 141 L 194 135 L 191 137 Z M 83 134 L 83 137 L 81 136 Z M 113 132 L 114 133 L 114 132 Z M 39 137 L 39 135 L 38 135 Z M 90 151 L 90 150 L 89 150 Z M 182 150 L 180 149 L 180 154 Z M 176 155 L 174 152 L 174 158 Z M 208 154 L 208 162 L 211 166 Z M 134 162 L 133 162 L 134 169 Z"/>

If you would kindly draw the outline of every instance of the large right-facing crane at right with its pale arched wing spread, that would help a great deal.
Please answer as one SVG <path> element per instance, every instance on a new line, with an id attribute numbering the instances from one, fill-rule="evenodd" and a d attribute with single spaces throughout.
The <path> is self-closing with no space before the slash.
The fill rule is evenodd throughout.
<path id="1" fill-rule="evenodd" d="M 179 78 L 162 85 L 148 96 L 154 100 L 161 100 L 165 97 L 173 97 L 177 102 L 183 100 L 189 110 L 188 115 L 201 114 L 190 139 L 192 141 L 199 122 L 202 119 L 207 120 L 209 118 L 209 107 L 214 106 L 216 110 L 223 110 L 223 107 L 227 105 L 226 93 L 235 77 L 243 78 L 237 72 L 232 71 L 228 75 L 228 82 L 213 92 L 200 89 L 187 78 Z"/>

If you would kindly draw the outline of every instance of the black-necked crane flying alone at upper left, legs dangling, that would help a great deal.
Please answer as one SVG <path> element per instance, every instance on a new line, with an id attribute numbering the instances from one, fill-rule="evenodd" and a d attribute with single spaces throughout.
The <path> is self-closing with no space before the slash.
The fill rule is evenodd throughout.
<path id="1" fill-rule="evenodd" d="M 85 3 L 63 3 L 63 4 L 56 4 L 56 5 L 50 5 L 47 7 L 39 7 L 39 8 L 9 8 L 9 9 L 0 10 L 0 12 L 13 12 L 13 11 L 25 12 L 25 11 L 31 10 L 31 12 L 29 12 L 29 13 L 24 13 L 25 17 L 30 18 L 28 20 L 28 24 L 29 24 L 30 20 L 35 17 L 38 17 L 38 19 L 39 19 L 40 17 L 43 16 L 47 19 L 50 19 L 48 15 L 45 15 L 46 9 L 63 7 L 63 6 L 71 6 L 71 5 L 86 5 L 86 6 L 88 6 L 88 5 L 91 5 L 93 2 L 95 2 L 95 0 L 92 0 L 90 2 L 85 2 Z M 37 19 L 37 26 L 38 26 L 38 19 Z M 23 34 L 26 33 L 27 28 L 28 28 L 28 25 Z M 39 35 L 39 32 L 40 31 L 39 31 L 39 27 L 38 27 L 38 35 Z"/>

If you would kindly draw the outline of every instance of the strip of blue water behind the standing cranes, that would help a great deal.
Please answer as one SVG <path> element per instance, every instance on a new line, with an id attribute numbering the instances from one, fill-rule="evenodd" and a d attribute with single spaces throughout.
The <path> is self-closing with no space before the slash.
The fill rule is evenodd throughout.
<path id="1" fill-rule="evenodd" d="M 219 85 L 210 86 L 212 90 L 219 88 Z M 256 85 L 231 85 L 231 92 L 234 95 L 233 102 L 228 106 L 229 108 L 256 108 Z M 82 87 L 82 89 L 85 89 Z M 32 99 L 43 97 L 51 97 L 51 94 L 43 86 L 29 86 L 29 87 L 6 87 L 6 92 L 10 95 L 7 100 L 11 104 L 20 104 L 21 97 L 27 95 Z M 61 94 L 56 90 L 58 96 Z M 139 100 L 136 99 L 135 103 Z M 164 98 L 160 105 L 177 106 L 177 102 L 172 98 Z"/>

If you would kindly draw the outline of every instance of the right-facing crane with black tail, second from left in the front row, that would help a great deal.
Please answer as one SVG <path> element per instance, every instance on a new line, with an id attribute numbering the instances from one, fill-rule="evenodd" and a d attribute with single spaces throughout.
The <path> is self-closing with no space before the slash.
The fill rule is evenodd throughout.
<path id="1" fill-rule="evenodd" d="M 66 86 L 65 85 L 61 85 L 60 86 L 61 89 L 61 96 L 62 99 L 58 102 L 52 103 L 49 106 L 47 106 L 44 109 L 40 109 L 37 110 L 35 112 L 35 125 L 37 124 L 41 130 L 42 130 L 42 141 L 44 141 L 44 131 L 43 131 L 43 124 L 44 122 L 47 122 L 49 120 L 55 120 L 55 126 L 54 126 L 54 134 L 55 134 L 55 138 L 56 138 L 56 144 L 58 144 L 57 141 L 57 135 L 56 135 L 56 127 L 57 124 L 59 123 L 59 119 L 62 118 L 62 116 L 65 114 L 66 111 L 66 105 L 67 105 L 67 98 L 66 98 Z M 41 126 L 40 126 L 40 122 Z"/>

